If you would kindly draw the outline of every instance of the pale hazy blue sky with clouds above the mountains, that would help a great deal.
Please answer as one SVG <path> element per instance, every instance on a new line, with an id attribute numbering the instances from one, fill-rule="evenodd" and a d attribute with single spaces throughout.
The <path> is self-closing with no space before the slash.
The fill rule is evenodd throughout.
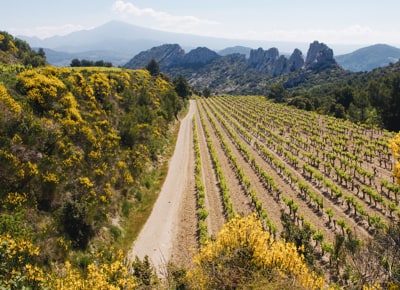
<path id="1" fill-rule="evenodd" d="M 400 46 L 399 0 L 12 0 L 0 30 L 48 37 L 110 20 L 173 32 L 270 41 Z"/>

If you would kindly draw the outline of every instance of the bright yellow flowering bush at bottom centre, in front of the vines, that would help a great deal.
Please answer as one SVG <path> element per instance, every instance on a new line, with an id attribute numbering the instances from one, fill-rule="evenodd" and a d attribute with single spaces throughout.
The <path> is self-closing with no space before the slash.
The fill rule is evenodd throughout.
<path id="1" fill-rule="evenodd" d="M 217 240 L 204 246 L 194 262 L 188 276 L 200 289 L 324 287 L 323 278 L 307 268 L 298 249 L 275 241 L 255 214 L 225 224 Z"/>

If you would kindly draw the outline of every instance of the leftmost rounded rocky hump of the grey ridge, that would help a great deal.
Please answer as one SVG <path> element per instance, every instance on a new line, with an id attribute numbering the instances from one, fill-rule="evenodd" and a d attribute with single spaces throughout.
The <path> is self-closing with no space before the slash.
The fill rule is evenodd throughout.
<path id="1" fill-rule="evenodd" d="M 142 51 L 125 64 L 124 67 L 131 69 L 144 68 L 154 58 L 160 65 L 161 70 L 165 70 L 181 63 L 184 55 L 185 51 L 178 44 L 164 44 Z"/>

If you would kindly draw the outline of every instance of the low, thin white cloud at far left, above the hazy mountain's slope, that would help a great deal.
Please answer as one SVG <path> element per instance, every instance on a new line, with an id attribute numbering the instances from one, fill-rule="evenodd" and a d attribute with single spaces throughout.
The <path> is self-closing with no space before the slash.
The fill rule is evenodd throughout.
<path id="1" fill-rule="evenodd" d="M 85 29 L 82 25 L 65 24 L 61 26 L 37 26 L 32 28 L 12 28 L 10 33 L 13 35 L 36 36 L 47 38 L 54 35 L 66 35 L 74 31 Z"/>

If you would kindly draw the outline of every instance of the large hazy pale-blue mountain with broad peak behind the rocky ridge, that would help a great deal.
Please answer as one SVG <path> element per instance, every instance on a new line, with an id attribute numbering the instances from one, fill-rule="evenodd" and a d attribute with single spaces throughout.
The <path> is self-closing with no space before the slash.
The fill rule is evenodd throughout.
<path id="1" fill-rule="evenodd" d="M 123 65 L 141 51 L 165 43 L 179 43 L 185 50 L 195 47 L 208 47 L 221 50 L 235 45 L 250 47 L 276 46 L 284 51 L 295 47 L 306 48 L 307 43 L 255 41 L 205 37 L 183 33 L 172 33 L 143 28 L 120 21 L 111 21 L 99 27 L 72 32 L 65 36 L 54 36 L 46 39 L 18 36 L 27 41 L 31 47 L 51 49 L 47 61 L 53 65 L 68 65 L 73 58 L 92 59 L 98 55 L 114 65 Z M 94 53 L 95 52 L 95 53 Z M 76 53 L 79 53 L 76 55 Z"/>

